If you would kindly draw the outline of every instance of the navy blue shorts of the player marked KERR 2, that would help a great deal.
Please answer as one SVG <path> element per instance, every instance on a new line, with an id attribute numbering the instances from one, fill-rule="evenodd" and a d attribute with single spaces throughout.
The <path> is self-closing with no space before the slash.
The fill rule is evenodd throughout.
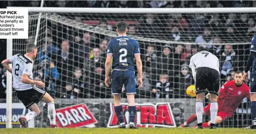
<path id="1" fill-rule="evenodd" d="M 121 94 L 123 84 L 126 94 L 136 94 L 136 80 L 133 70 L 113 70 L 111 78 L 112 94 Z"/>

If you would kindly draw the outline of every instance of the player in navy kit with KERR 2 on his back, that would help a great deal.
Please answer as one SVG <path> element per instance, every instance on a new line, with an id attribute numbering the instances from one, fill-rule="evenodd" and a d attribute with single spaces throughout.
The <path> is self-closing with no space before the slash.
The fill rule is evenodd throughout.
<path id="1" fill-rule="evenodd" d="M 136 40 L 126 36 L 127 24 L 118 22 L 117 29 L 118 37 L 110 40 L 107 45 L 107 58 L 105 63 L 105 84 L 109 87 L 109 71 L 111 59 L 112 61 L 112 76 L 111 90 L 115 102 L 115 113 L 120 123 L 120 128 L 126 128 L 123 119 L 123 108 L 121 106 L 121 93 L 124 85 L 129 104 L 129 129 L 136 129 L 134 119 L 136 114 L 134 94 L 136 94 L 136 80 L 134 72 L 134 57 L 138 70 L 137 85 L 142 86 L 142 63 L 140 59 L 139 44 Z"/>

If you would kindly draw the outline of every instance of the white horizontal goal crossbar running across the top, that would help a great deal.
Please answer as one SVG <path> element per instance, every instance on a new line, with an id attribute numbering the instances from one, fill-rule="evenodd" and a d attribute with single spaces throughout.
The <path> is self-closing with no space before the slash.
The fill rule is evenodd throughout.
<path id="1" fill-rule="evenodd" d="M 256 13 L 256 8 L 38 8 L 7 7 L 10 9 L 29 9 L 33 13 L 126 13 L 126 14 L 164 14 L 164 13 Z"/>

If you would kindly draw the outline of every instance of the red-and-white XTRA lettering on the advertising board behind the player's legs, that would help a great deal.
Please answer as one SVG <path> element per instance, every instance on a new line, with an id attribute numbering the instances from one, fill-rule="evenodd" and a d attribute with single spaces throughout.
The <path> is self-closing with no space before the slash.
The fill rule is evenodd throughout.
<path id="1" fill-rule="evenodd" d="M 128 125 L 128 103 L 121 103 L 123 107 L 124 123 Z M 118 119 L 114 104 L 110 103 L 110 118 L 107 127 L 117 127 Z M 176 127 L 172 109 L 169 103 L 137 103 L 134 123 L 137 127 Z"/>

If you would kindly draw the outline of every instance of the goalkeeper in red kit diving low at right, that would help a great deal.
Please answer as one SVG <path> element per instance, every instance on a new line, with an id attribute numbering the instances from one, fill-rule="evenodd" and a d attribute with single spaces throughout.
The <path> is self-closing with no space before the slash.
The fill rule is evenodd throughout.
<path id="1" fill-rule="evenodd" d="M 241 71 L 235 73 L 234 81 L 227 81 L 221 88 L 218 98 L 218 113 L 215 118 L 215 124 L 225 121 L 226 118 L 231 118 L 237 107 L 244 98 L 250 98 L 249 87 L 243 83 L 243 74 Z M 211 114 L 211 103 L 203 108 L 203 115 Z M 190 123 L 197 119 L 196 114 L 193 114 L 180 127 L 188 127 Z M 203 127 L 209 127 L 211 121 L 203 123 Z"/>

